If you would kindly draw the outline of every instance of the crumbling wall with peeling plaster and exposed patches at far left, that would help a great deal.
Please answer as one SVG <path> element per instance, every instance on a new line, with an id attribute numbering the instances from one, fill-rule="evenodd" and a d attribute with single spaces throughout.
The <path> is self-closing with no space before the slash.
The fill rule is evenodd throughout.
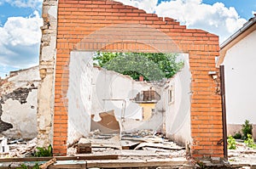
<path id="1" fill-rule="evenodd" d="M 7 138 L 36 138 L 39 67 L 10 73 L 0 84 L 0 133 Z"/>

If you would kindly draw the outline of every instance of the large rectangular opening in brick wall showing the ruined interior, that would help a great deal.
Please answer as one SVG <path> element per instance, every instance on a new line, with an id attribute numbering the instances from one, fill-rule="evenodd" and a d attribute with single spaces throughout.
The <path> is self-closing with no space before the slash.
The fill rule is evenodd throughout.
<path id="1" fill-rule="evenodd" d="M 99 59 L 103 54 L 105 65 Z M 137 53 L 71 53 L 65 103 L 70 147 L 83 138 L 94 152 L 140 149 L 186 154 L 191 140 L 189 55 L 144 55 L 169 56 L 175 63 L 166 65 L 177 68 L 170 69 L 169 76 L 163 60 L 158 60 L 161 69 Z"/>

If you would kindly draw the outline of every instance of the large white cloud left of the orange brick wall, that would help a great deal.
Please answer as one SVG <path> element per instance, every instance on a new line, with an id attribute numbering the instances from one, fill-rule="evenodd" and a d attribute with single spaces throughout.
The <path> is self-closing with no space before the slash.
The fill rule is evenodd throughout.
<path id="1" fill-rule="evenodd" d="M 38 11 L 27 18 L 9 17 L 0 26 L 0 65 L 19 69 L 38 65 L 41 25 Z"/>

